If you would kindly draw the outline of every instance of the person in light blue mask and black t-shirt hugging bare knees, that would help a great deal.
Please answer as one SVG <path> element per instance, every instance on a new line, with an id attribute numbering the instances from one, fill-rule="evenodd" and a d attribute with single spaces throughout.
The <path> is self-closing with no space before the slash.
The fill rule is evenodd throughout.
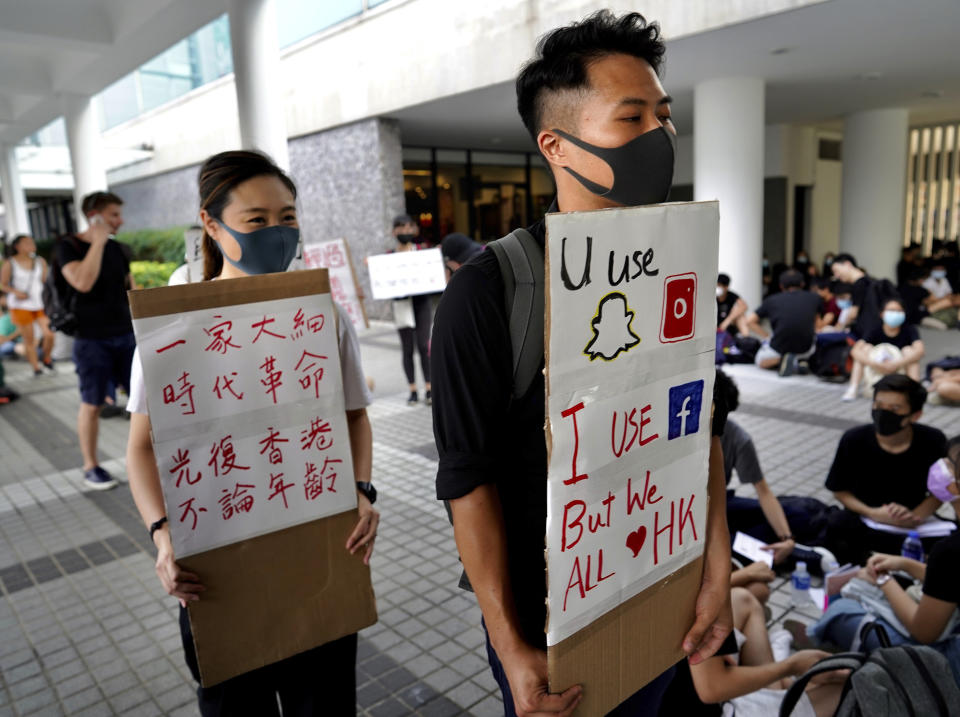
<path id="1" fill-rule="evenodd" d="M 905 373 L 914 381 L 920 380 L 920 359 L 924 347 L 917 327 L 905 323 L 907 314 L 900 299 L 890 299 L 880 314 L 882 323 L 857 341 L 851 351 L 854 359 L 850 385 L 842 400 L 857 397 L 860 383 L 875 384 L 883 376 Z"/>

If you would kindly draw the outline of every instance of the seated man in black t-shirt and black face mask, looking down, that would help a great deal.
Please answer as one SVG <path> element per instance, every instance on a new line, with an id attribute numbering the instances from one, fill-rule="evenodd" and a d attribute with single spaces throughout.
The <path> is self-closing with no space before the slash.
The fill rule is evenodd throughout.
<path id="1" fill-rule="evenodd" d="M 926 397 L 912 378 L 885 376 L 873 387 L 873 423 L 851 428 L 840 439 L 826 486 L 845 508 L 827 541 L 841 563 L 862 565 L 873 551 L 900 552 L 902 532 L 873 529 L 864 518 L 908 530 L 939 507 L 927 494 L 927 472 L 944 455 L 947 439 L 917 423 Z M 936 539 L 923 542 L 929 551 Z"/>

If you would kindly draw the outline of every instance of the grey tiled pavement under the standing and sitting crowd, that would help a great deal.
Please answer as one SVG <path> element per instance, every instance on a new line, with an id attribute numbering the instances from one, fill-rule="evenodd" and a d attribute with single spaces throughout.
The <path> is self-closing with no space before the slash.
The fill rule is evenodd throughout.
<path id="1" fill-rule="evenodd" d="M 360 637 L 358 714 L 502 714 L 480 612 L 457 588 L 452 530 L 434 499 L 430 412 L 406 405 L 389 325 L 375 324 L 361 345 L 377 383 L 370 417 L 383 520 L 372 563 L 380 620 Z M 101 422 L 102 464 L 120 487 L 89 491 L 77 467 L 72 366 L 38 379 L 23 362 L 5 367 L 22 398 L 0 407 L 0 717 L 196 715 L 176 602 L 154 574 L 125 482 L 127 422 Z M 729 371 L 742 395 L 733 416 L 774 491 L 829 501 L 822 483 L 836 442 L 869 420 L 869 401 L 841 403 L 842 386 L 809 377 Z M 924 421 L 960 433 L 960 409 L 929 407 Z M 812 607 L 790 606 L 783 578 L 774 588 L 771 624 L 816 619 Z"/>

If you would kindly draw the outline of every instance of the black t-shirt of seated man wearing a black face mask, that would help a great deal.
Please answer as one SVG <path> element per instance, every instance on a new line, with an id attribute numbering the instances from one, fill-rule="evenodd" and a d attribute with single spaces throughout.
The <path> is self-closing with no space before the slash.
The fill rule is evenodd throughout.
<path id="1" fill-rule="evenodd" d="M 915 423 L 910 447 L 888 453 L 877 442 L 873 424 L 851 428 L 840 438 L 826 486 L 849 491 L 873 508 L 899 503 L 912 510 L 927 497 L 927 472 L 946 446 L 942 431 Z"/>

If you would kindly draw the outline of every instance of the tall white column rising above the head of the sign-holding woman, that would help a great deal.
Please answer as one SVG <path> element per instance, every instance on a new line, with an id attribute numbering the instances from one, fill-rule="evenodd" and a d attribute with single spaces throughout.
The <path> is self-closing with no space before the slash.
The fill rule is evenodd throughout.
<path id="1" fill-rule="evenodd" d="M 229 0 L 240 141 L 290 168 L 274 0 Z"/>

